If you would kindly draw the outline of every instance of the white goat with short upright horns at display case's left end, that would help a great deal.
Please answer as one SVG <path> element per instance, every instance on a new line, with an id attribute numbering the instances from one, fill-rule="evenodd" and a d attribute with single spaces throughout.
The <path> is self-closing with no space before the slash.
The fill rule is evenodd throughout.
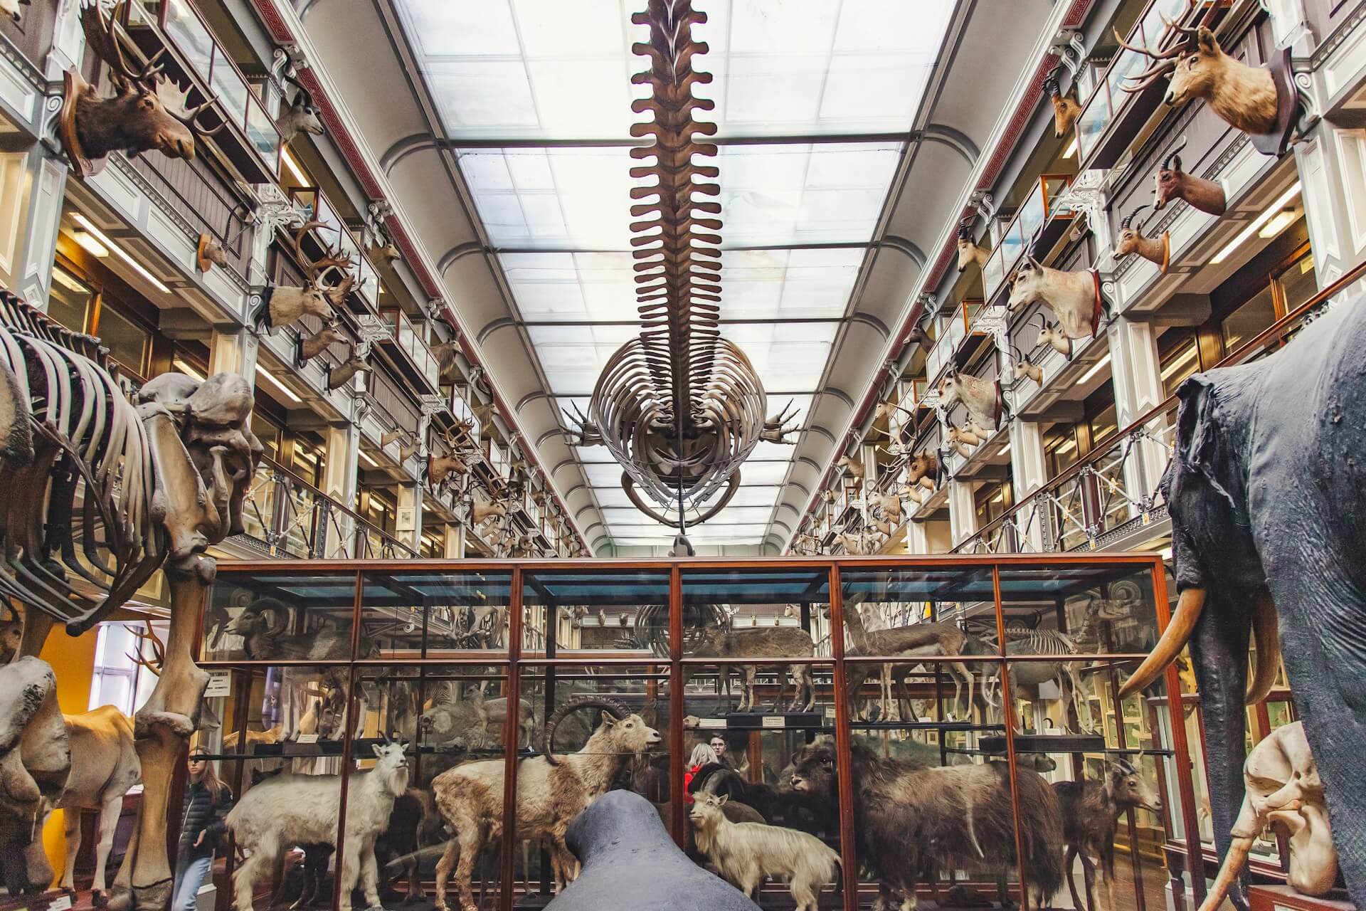
<path id="1" fill-rule="evenodd" d="M 347 783 L 346 856 L 339 863 L 342 911 L 351 911 L 358 878 L 366 906 L 381 907 L 374 840 L 389 824 L 393 800 L 408 787 L 404 748 L 403 743 L 374 746 L 378 762 Z M 340 798 L 342 780 L 335 774 L 280 774 L 246 792 L 225 819 L 238 847 L 249 855 L 232 874 L 236 911 L 251 911 L 257 877 L 275 867 L 281 848 L 336 844 Z"/>

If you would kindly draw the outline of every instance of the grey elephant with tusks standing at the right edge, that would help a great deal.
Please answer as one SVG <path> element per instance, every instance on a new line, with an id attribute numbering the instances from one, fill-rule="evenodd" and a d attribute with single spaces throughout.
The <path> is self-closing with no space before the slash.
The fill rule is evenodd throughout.
<path id="1" fill-rule="evenodd" d="M 1366 296 L 1280 351 L 1188 378 L 1161 489 L 1179 601 L 1120 694 L 1188 643 L 1221 858 L 1243 806 L 1244 702 L 1285 672 L 1328 799 L 1347 889 L 1366 907 Z M 1249 684 L 1249 643 L 1257 661 Z M 1246 907 L 1236 886 L 1229 897 Z"/>

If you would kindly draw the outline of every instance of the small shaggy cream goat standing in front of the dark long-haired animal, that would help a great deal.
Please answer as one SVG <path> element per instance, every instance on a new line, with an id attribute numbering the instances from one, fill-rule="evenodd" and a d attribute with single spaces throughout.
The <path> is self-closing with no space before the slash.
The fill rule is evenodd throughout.
<path id="1" fill-rule="evenodd" d="M 787 880 L 796 911 L 817 911 L 821 886 L 835 878 L 840 855 L 814 835 L 762 822 L 731 822 L 727 795 L 698 794 L 688 811 L 697 848 L 721 878 L 758 901 L 764 877 Z"/>

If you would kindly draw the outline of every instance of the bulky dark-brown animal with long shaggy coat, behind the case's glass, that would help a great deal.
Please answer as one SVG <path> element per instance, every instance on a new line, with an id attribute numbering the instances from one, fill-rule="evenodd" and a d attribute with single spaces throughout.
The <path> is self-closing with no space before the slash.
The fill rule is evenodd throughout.
<path id="1" fill-rule="evenodd" d="M 884 759 L 858 740 L 850 744 L 854 830 L 858 852 L 878 880 L 874 908 L 893 893 L 915 906 L 921 874 L 938 870 L 1015 869 L 1015 817 L 1005 762 L 926 769 Z M 792 788 L 837 806 L 835 743 L 817 740 L 792 757 Z M 1063 884 L 1063 817 L 1057 798 L 1038 773 L 1016 769 L 1023 870 L 1040 907 Z"/>

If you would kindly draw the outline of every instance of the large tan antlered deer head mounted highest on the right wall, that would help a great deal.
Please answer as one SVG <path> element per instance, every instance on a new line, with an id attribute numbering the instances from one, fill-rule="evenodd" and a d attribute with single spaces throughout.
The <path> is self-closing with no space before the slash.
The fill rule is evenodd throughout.
<path id="1" fill-rule="evenodd" d="M 1176 107 L 1194 98 L 1209 102 L 1214 113 L 1235 130 L 1250 134 L 1266 134 L 1276 130 L 1279 98 L 1276 82 L 1270 70 L 1250 67 L 1224 53 L 1209 30 L 1209 22 L 1217 7 L 1194 29 L 1186 29 L 1167 22 L 1164 36 L 1175 31 L 1180 36 L 1172 46 L 1153 51 L 1147 46 L 1127 44 L 1115 33 L 1121 48 L 1141 53 L 1153 60 L 1153 66 L 1132 76 L 1134 85 L 1124 85 L 1124 92 L 1142 92 L 1158 79 L 1167 76 L 1171 85 L 1162 98 Z"/>

